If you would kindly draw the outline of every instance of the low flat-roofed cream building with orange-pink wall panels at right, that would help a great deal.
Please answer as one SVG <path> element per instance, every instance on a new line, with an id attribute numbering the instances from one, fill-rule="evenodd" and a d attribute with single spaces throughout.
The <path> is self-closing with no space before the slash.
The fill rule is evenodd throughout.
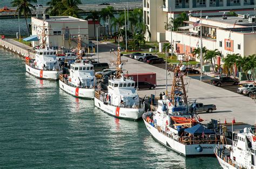
<path id="1" fill-rule="evenodd" d="M 192 60 L 198 60 L 192 55 L 194 48 L 200 47 L 200 26 L 193 23 L 200 20 L 197 17 L 189 17 L 186 23 L 189 26 L 181 27 L 179 32 L 166 31 L 166 40 L 180 41 L 174 43 L 174 50 L 178 54 L 190 56 Z M 219 50 L 222 57 L 227 54 L 239 53 L 242 57 L 256 53 L 256 23 L 255 17 L 242 15 L 240 17 L 207 17 L 202 18 L 202 44 L 207 50 Z M 198 60 L 199 61 L 199 60 Z"/>

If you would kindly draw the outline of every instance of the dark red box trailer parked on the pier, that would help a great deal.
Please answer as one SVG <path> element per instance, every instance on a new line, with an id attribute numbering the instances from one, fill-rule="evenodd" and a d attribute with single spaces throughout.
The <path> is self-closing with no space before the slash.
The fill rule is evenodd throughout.
<path id="1" fill-rule="evenodd" d="M 152 85 L 157 86 L 157 74 L 156 73 L 125 74 L 125 78 L 131 78 L 135 82 L 150 82 Z"/>

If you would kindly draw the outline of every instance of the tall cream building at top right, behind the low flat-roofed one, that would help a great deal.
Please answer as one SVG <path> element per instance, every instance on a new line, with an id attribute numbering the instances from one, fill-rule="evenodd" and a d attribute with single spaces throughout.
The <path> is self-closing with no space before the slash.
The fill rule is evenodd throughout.
<path id="1" fill-rule="evenodd" d="M 146 40 L 160 40 L 157 37 L 165 33 L 164 25 L 169 18 L 176 18 L 181 12 L 191 10 L 193 16 L 219 16 L 221 11 L 234 11 L 241 14 L 253 14 L 255 0 L 143 0 L 144 23 L 149 26 L 151 38 L 146 34 Z M 167 18 L 166 18 L 167 17 Z"/>

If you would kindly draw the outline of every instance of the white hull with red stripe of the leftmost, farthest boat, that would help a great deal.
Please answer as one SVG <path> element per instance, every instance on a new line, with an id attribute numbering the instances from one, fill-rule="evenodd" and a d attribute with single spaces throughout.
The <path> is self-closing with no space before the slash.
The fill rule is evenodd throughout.
<path id="1" fill-rule="evenodd" d="M 59 74 L 62 73 L 62 71 L 39 70 L 39 69 L 32 68 L 29 65 L 26 65 L 26 72 L 35 76 L 38 79 L 45 79 L 45 80 L 58 80 Z"/>

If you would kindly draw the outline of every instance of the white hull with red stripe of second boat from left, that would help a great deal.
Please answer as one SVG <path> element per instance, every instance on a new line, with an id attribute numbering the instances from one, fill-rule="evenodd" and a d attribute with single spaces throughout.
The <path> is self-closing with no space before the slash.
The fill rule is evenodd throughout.
<path id="1" fill-rule="evenodd" d="M 59 80 L 59 88 L 66 93 L 79 98 L 93 99 L 95 96 L 95 89 L 72 87 L 61 80 Z"/>

